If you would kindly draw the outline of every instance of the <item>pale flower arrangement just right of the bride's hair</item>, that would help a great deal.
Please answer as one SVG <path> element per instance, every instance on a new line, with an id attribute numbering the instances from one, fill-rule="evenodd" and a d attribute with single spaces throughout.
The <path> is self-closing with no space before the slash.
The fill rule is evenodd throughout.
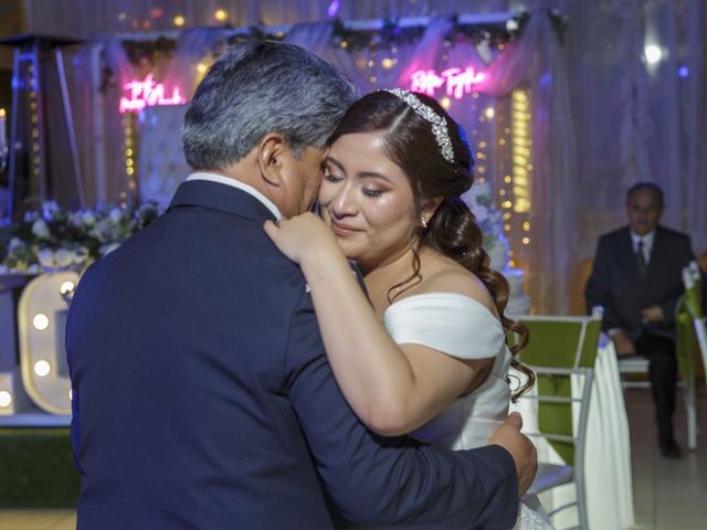
<path id="1" fill-rule="evenodd" d="M 492 267 L 503 271 L 508 262 L 508 240 L 504 235 L 503 214 L 494 204 L 488 182 L 475 182 L 462 199 L 476 218 L 484 234 L 484 248 L 490 255 Z"/>

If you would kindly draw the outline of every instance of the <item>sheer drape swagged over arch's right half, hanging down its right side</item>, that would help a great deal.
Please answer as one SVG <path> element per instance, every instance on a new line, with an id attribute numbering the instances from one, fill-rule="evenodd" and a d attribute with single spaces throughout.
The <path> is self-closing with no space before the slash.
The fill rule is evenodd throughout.
<path id="1" fill-rule="evenodd" d="M 377 70 L 377 82 L 372 84 L 361 72 L 367 70 L 367 61 L 356 61 L 351 53 L 333 47 L 331 26 L 327 22 L 299 28 L 291 33 L 288 40 L 329 60 L 365 89 L 389 86 L 408 88 L 413 70 L 443 70 L 440 66 L 444 51 L 449 55 L 447 64 L 467 65 L 486 73 L 485 80 L 475 86 L 478 93 L 500 98 L 507 97 L 521 84 L 530 88 L 535 180 L 529 236 L 536 243 L 527 250 L 523 248 L 528 290 L 534 306 L 542 312 L 567 312 L 567 290 L 558 289 L 557 285 L 567 285 L 570 278 L 572 258 L 577 255 L 574 234 L 578 232 L 579 218 L 572 211 L 572 205 L 578 202 L 577 188 L 572 186 L 572 177 L 577 174 L 577 157 L 564 59 L 558 35 L 546 12 L 537 11 L 521 38 L 509 43 L 487 65 L 471 44 L 444 49 L 443 41 L 451 25 L 449 18 L 433 19 L 414 47 L 398 52 L 401 67 L 389 70 L 388 75 L 384 75 L 384 70 Z M 454 106 L 450 113 L 467 129 L 479 114 L 471 105 Z M 563 198 L 559 203 L 556 202 L 558 197 Z M 555 222 L 557 219 L 563 222 Z M 520 254 L 520 251 L 517 252 Z"/>

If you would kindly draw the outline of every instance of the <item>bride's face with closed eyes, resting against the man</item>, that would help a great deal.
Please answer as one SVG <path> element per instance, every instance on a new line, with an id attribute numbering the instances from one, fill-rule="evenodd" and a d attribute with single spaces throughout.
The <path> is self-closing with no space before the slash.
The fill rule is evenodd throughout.
<path id="1" fill-rule="evenodd" d="M 325 159 L 321 215 L 344 253 L 368 272 L 404 254 L 415 225 L 413 193 L 378 132 L 345 135 Z"/>

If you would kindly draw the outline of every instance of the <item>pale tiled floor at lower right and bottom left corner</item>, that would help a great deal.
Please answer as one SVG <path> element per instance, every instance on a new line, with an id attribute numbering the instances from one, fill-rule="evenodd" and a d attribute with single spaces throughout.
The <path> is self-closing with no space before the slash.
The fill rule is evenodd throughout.
<path id="1" fill-rule="evenodd" d="M 679 392 L 682 398 L 682 392 Z M 705 528 L 707 506 L 707 434 L 694 453 L 679 460 L 661 456 L 655 443 L 653 404 L 647 389 L 626 392 L 631 422 L 635 530 L 698 530 Z M 707 433 L 707 393 L 698 391 L 697 416 Z M 682 400 L 676 414 L 677 437 L 685 449 L 685 413 Z M 2 530 L 73 530 L 71 510 L 0 510 Z M 610 530 L 610 529 L 592 529 Z"/>

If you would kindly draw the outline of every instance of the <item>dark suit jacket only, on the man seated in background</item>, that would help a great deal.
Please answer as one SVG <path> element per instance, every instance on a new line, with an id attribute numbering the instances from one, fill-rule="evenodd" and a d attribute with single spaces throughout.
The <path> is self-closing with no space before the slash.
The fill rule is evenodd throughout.
<path id="1" fill-rule="evenodd" d="M 629 226 L 599 240 L 592 275 L 587 283 L 588 310 L 604 307 L 602 329 L 622 328 L 636 340 L 645 330 L 675 340 L 675 308 L 685 293 L 683 267 L 695 259 L 689 236 L 657 226 L 645 277 L 639 274 Z M 641 309 L 658 305 L 663 322 L 644 325 Z"/>

